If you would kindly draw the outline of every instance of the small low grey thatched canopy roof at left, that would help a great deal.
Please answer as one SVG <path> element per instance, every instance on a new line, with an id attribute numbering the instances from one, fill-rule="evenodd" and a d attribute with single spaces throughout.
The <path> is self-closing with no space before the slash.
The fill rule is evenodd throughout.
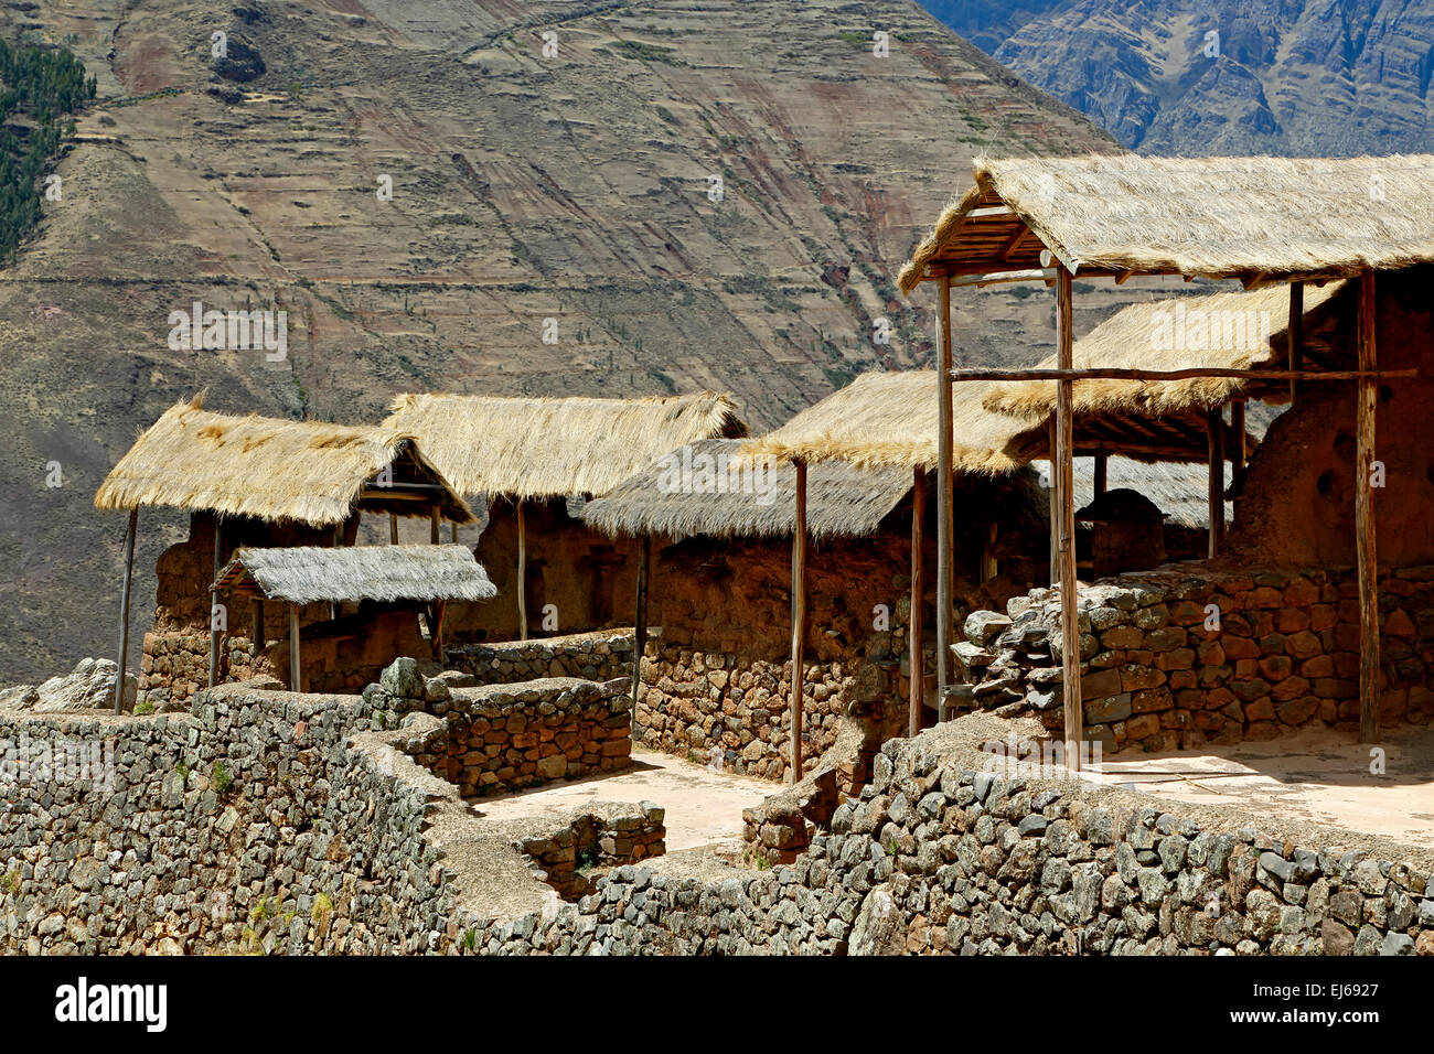
<path id="1" fill-rule="evenodd" d="M 486 601 L 498 595 L 463 545 L 238 549 L 215 589 L 290 604 Z"/>

